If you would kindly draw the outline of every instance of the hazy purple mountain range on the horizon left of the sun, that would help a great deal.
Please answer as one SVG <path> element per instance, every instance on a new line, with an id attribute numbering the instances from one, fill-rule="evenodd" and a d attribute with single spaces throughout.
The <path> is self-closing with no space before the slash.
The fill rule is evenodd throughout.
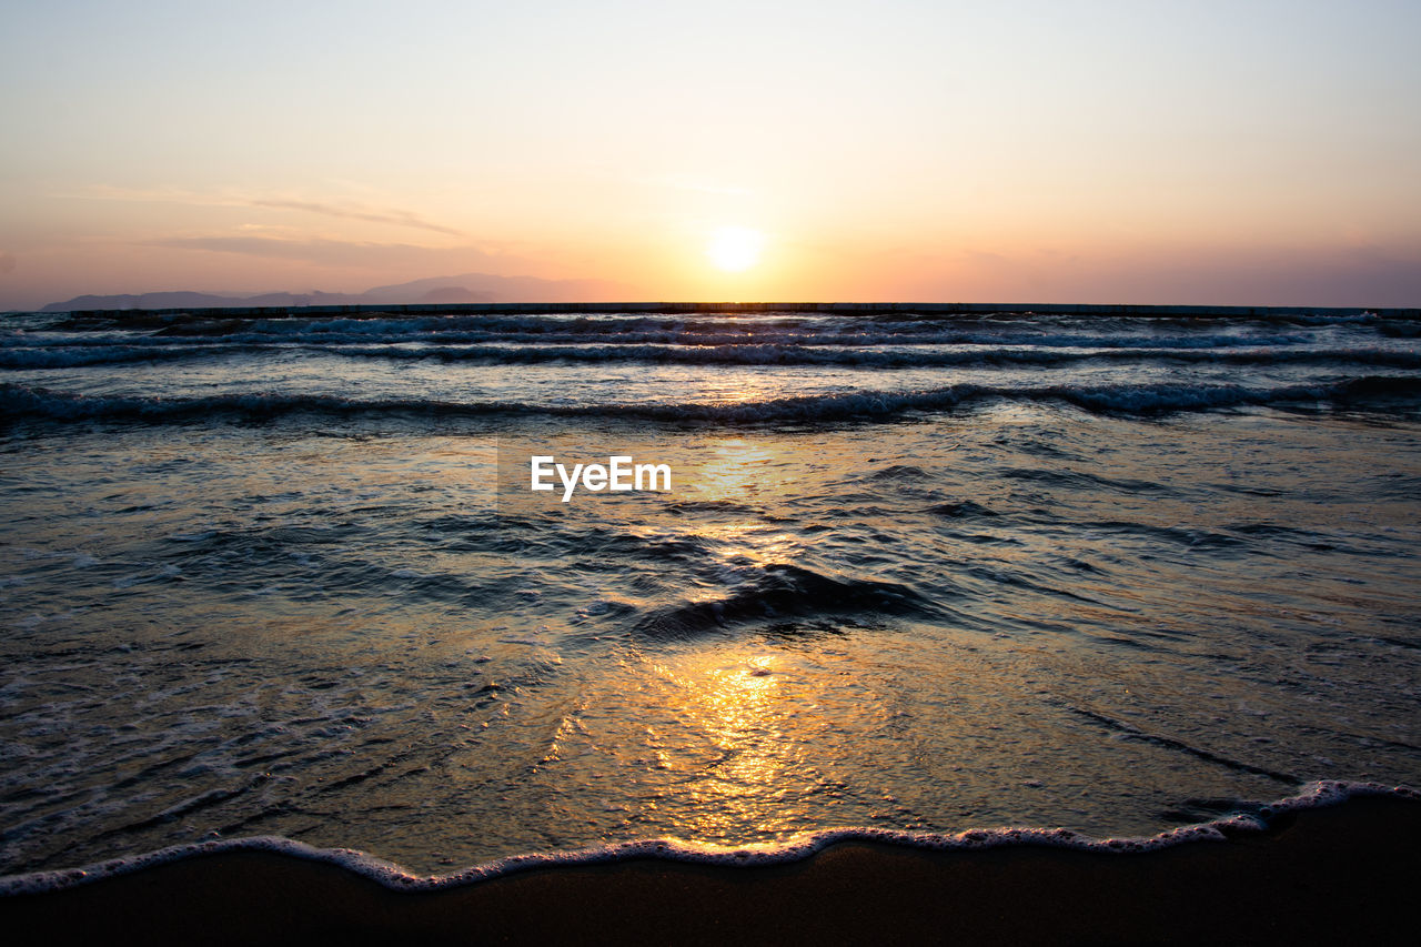
<path id="1" fill-rule="evenodd" d="M 540 280 L 533 276 L 463 273 L 433 276 L 394 286 L 377 286 L 364 293 L 259 293 L 222 296 L 215 293 L 124 293 L 118 296 L 75 296 L 50 303 L 44 313 L 107 309 L 223 309 L 230 306 L 399 306 L 406 303 L 578 303 L 617 299 L 624 287 L 608 280 Z"/>

